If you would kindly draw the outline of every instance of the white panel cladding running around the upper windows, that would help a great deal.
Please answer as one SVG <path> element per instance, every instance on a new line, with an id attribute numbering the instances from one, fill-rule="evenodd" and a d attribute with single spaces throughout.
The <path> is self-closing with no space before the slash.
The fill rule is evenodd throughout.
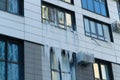
<path id="1" fill-rule="evenodd" d="M 24 0 L 24 17 L 0 11 L 0 33 L 62 48 L 78 53 L 85 51 L 96 58 L 120 63 L 120 34 L 113 33 L 114 43 L 92 40 L 84 35 L 83 15 L 111 24 L 119 20 L 115 1 L 107 0 L 110 18 L 84 10 L 81 0 L 74 0 L 74 5 L 60 0 L 44 0 L 75 11 L 77 31 L 60 29 L 41 22 L 41 0 Z"/>

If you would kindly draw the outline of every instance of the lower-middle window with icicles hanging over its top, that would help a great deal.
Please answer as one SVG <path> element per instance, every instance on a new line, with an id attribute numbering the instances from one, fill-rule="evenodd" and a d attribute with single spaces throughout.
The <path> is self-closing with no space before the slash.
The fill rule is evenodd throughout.
<path id="1" fill-rule="evenodd" d="M 51 49 L 50 55 L 52 80 L 75 80 L 75 65 L 70 63 L 69 54 L 62 51 L 59 55 Z"/>

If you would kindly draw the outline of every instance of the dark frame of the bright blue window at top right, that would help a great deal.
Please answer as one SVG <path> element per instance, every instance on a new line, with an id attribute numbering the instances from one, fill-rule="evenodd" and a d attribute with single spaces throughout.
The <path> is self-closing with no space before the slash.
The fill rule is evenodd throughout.
<path id="1" fill-rule="evenodd" d="M 90 11 L 90 12 L 93 12 L 93 13 L 98 14 L 98 15 L 101 15 L 101 16 L 104 16 L 104 17 L 107 17 L 107 18 L 110 17 L 110 16 L 109 16 L 109 9 L 108 9 L 107 0 L 105 0 L 106 16 L 102 14 L 100 2 L 99 2 L 100 14 L 99 14 L 99 13 L 97 13 L 97 12 L 95 11 L 95 3 L 94 3 L 94 0 L 92 0 L 92 2 L 93 2 L 93 9 L 94 9 L 93 11 L 88 9 L 88 0 L 85 0 L 85 1 L 86 1 L 86 8 L 84 8 L 84 6 L 83 6 L 83 4 L 82 4 L 82 3 L 83 3 L 82 1 L 83 1 L 83 0 L 81 0 L 82 9 L 87 10 L 87 11 Z M 97 2 L 98 2 L 98 1 L 97 1 Z M 101 3 L 101 4 L 103 4 L 103 3 Z"/>

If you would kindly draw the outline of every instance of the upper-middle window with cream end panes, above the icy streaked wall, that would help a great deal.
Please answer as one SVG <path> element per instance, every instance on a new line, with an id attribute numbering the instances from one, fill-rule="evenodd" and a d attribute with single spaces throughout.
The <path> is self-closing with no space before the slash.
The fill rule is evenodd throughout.
<path id="1" fill-rule="evenodd" d="M 42 21 L 63 29 L 76 30 L 74 12 L 50 4 L 42 5 Z"/>

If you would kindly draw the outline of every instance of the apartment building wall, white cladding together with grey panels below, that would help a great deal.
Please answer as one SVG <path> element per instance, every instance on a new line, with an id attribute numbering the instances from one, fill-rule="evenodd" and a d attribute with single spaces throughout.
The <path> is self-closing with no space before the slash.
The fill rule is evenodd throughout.
<path id="1" fill-rule="evenodd" d="M 83 25 L 83 15 L 108 24 L 119 20 L 117 6 L 114 0 L 107 0 L 110 18 L 82 9 L 81 0 L 74 0 L 75 5 L 70 5 L 59 0 L 44 1 L 56 5 L 59 4 L 61 7 L 75 11 L 77 31 L 64 30 L 51 26 L 50 24 L 42 23 L 41 0 L 24 0 L 24 16 L 17 16 L 0 11 L 0 33 L 38 44 L 44 44 L 45 47 L 49 45 L 76 53 L 79 51 L 87 52 L 94 54 L 96 58 L 120 64 L 120 34 L 113 32 L 114 42 L 94 41 L 90 37 L 85 36 Z M 38 52 L 34 52 L 37 51 L 35 50 L 37 47 L 40 47 L 40 45 L 25 42 L 26 80 L 38 80 L 38 78 L 48 80 L 48 78 L 51 78 L 51 75 L 47 74 L 47 72 L 50 72 L 49 56 L 46 54 L 48 52 L 44 50 L 44 53 L 40 53 L 40 48 L 37 49 Z M 41 57 L 41 54 L 43 54 L 43 57 Z M 41 63 L 43 66 L 41 66 Z M 39 65 L 39 70 L 42 74 L 38 73 L 38 68 L 35 65 Z M 119 65 L 113 64 L 115 80 L 119 80 L 119 71 L 117 70 L 119 67 Z M 86 73 L 87 72 L 84 74 Z M 40 77 L 42 75 L 44 77 Z"/>

